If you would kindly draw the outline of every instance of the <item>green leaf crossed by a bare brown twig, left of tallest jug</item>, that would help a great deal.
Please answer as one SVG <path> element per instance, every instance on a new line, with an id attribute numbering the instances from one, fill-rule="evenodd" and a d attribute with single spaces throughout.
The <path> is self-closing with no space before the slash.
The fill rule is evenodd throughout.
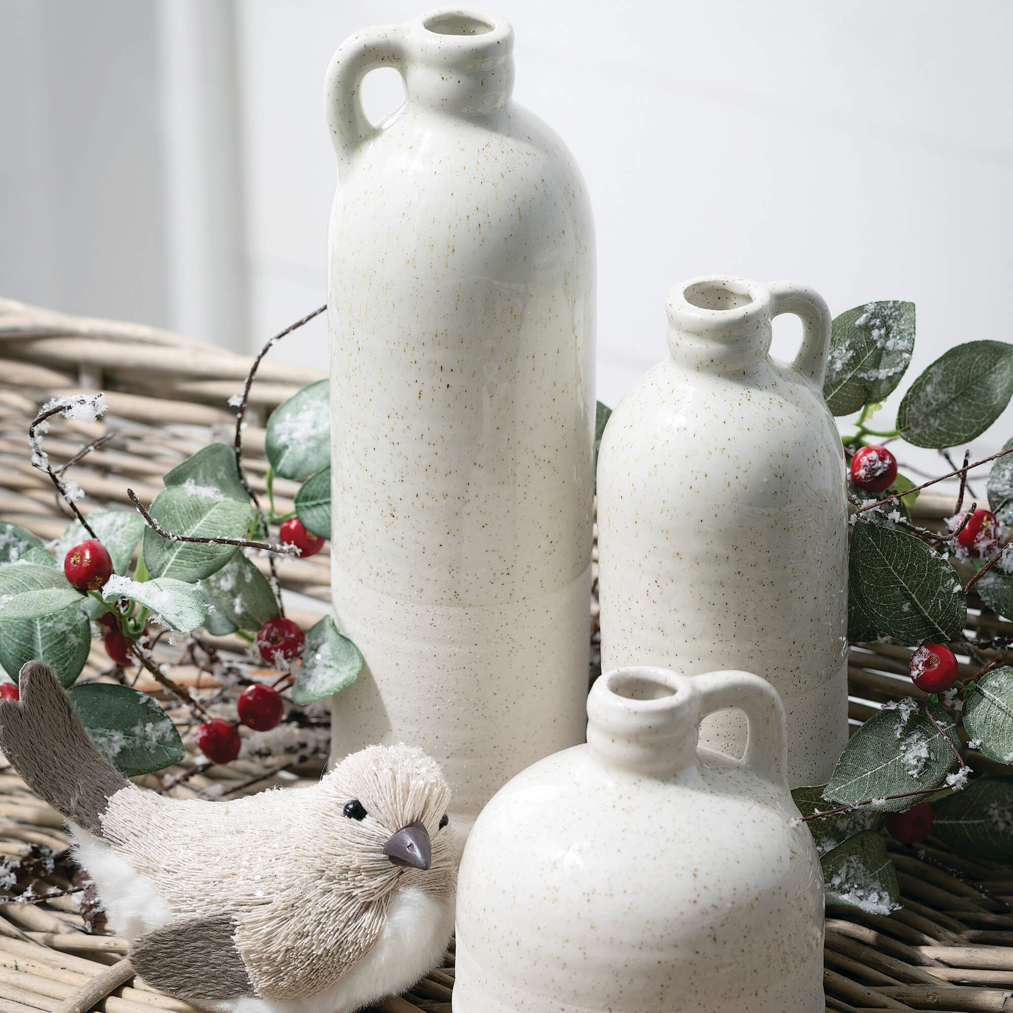
<path id="1" fill-rule="evenodd" d="M 159 492 L 151 516 L 163 531 L 191 538 L 243 538 L 252 511 L 249 503 L 222 497 L 190 495 L 181 485 Z M 151 528 L 144 532 L 144 561 L 152 576 L 201 580 L 220 569 L 236 553 L 235 545 L 208 545 L 162 538 Z"/>

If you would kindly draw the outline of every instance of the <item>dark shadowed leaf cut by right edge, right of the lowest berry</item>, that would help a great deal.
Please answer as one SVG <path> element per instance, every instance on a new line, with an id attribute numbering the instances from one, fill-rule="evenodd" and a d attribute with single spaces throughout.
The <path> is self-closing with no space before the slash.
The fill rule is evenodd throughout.
<path id="1" fill-rule="evenodd" d="M 932 803 L 932 834 L 958 855 L 1013 861 L 1013 777 L 989 775 Z"/>

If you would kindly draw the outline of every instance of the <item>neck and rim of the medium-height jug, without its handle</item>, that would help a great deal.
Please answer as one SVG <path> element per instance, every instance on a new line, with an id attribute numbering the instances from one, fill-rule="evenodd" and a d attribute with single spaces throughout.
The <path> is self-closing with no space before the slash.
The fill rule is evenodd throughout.
<path id="1" fill-rule="evenodd" d="M 713 275 L 669 292 L 669 352 L 687 366 L 742 372 L 767 357 L 773 296 L 768 286 Z"/>

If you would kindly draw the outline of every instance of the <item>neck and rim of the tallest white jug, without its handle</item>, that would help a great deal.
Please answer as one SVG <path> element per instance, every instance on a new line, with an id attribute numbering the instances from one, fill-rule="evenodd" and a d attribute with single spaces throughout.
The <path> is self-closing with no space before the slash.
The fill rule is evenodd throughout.
<path id="1" fill-rule="evenodd" d="M 405 26 L 408 104 L 457 115 L 501 109 L 514 91 L 514 28 L 465 8 L 441 7 Z"/>

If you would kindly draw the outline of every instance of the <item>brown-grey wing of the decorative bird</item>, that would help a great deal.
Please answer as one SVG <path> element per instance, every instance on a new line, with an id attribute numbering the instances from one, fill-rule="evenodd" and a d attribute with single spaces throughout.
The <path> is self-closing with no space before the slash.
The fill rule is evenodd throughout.
<path id="1" fill-rule="evenodd" d="M 233 941 L 236 923 L 225 913 L 170 922 L 141 936 L 128 954 L 149 984 L 184 999 L 253 995 Z"/>

